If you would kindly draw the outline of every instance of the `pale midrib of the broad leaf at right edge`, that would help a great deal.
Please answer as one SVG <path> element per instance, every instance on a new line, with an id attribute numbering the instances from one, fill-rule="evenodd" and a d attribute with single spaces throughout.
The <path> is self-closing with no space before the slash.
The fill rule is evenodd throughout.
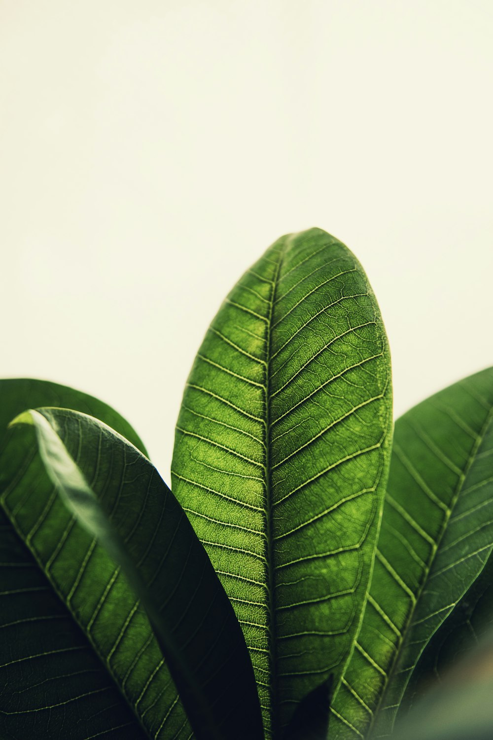
<path id="1" fill-rule="evenodd" d="M 429 557 L 429 562 L 428 562 L 428 564 L 426 566 L 426 572 L 424 573 L 424 577 L 421 580 L 421 585 L 420 585 L 420 587 L 418 588 L 418 591 L 415 594 L 415 601 L 412 604 L 412 608 L 409 610 L 409 616 L 408 616 L 408 619 L 407 619 L 407 624 L 405 625 L 404 629 L 401 630 L 401 639 L 400 639 L 400 641 L 398 643 L 398 648 L 395 650 L 395 656 L 394 656 L 394 658 L 392 660 L 392 665 L 390 667 L 390 670 L 387 672 L 386 681 L 384 682 L 384 688 L 381 691 L 380 699 L 378 699 L 378 703 L 375 706 L 375 710 L 373 710 L 373 715 L 371 716 L 370 723 L 368 724 L 368 732 L 367 732 L 367 736 L 368 737 L 370 737 L 371 730 L 373 729 L 373 725 L 375 724 L 375 718 L 378 716 L 378 713 L 379 713 L 379 711 L 381 709 L 381 704 L 384 702 L 385 696 L 387 696 L 387 689 L 388 689 L 388 687 L 390 685 L 390 679 L 394 677 L 395 668 L 397 667 L 398 661 L 399 661 L 399 659 L 401 657 L 401 648 L 405 644 L 405 642 L 407 641 L 407 637 L 409 635 L 409 630 L 412 627 L 412 617 L 414 616 L 415 610 L 416 610 L 416 608 L 418 606 L 418 602 L 421 599 L 421 595 L 423 593 L 424 587 L 425 587 L 426 583 L 428 582 L 429 571 L 431 571 L 433 562 L 435 560 L 435 556 L 438 553 L 438 550 L 440 549 L 441 541 L 442 541 L 443 536 L 444 536 L 444 534 L 446 532 L 446 528 L 447 528 L 447 525 L 449 524 L 449 520 L 450 520 L 450 517 L 452 516 L 452 512 L 455 509 L 455 505 L 457 504 L 458 499 L 460 497 L 460 492 L 462 491 L 464 481 L 466 480 L 466 477 L 469 474 L 469 470 L 471 468 L 472 462 L 474 462 L 474 460 L 475 460 L 475 457 L 476 457 L 476 454 L 477 454 L 477 450 L 480 447 L 481 443 L 483 442 L 483 439 L 484 439 L 484 437 L 486 435 L 486 431 L 489 428 L 489 425 L 492 422 L 492 419 L 493 419 L 493 406 L 490 408 L 488 414 L 486 415 L 486 420 L 484 421 L 483 425 L 481 426 L 480 432 L 477 434 L 477 438 L 475 440 L 475 443 L 472 445 L 472 450 L 469 453 L 469 456 L 467 458 L 466 465 L 464 466 L 463 471 L 460 474 L 460 477 L 459 477 L 459 480 L 458 480 L 458 484 L 457 484 L 457 487 L 456 487 L 456 490 L 455 490 L 455 494 L 452 497 L 452 502 L 449 505 L 449 507 L 447 508 L 447 511 L 445 512 L 445 516 L 443 518 L 443 525 L 441 527 L 441 532 L 440 532 L 438 538 L 435 540 L 435 545 L 432 548 L 431 555 Z M 409 678 L 411 676 L 411 673 L 408 674 L 407 681 L 404 684 L 404 690 L 405 690 L 405 688 L 407 686 L 407 682 L 409 681 Z M 402 699 L 402 696 L 404 696 L 404 691 L 403 691 L 403 693 L 401 695 L 401 699 Z M 395 717 L 392 719 L 392 727 L 393 727 L 394 721 L 395 721 Z"/>

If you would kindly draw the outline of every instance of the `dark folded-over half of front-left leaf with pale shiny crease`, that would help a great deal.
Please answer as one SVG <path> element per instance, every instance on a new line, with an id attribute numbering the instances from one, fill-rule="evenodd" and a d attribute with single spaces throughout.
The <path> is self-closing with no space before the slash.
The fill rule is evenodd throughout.
<path id="1" fill-rule="evenodd" d="M 25 417 L 22 414 L 18 421 Z M 248 740 L 261 737 L 253 670 L 234 610 L 203 545 L 155 468 L 92 417 L 45 408 L 30 411 L 29 418 L 41 459 L 66 508 L 120 566 L 146 608 L 197 740 L 226 740 L 233 732 Z M 77 463 L 58 434 L 77 450 Z M 91 471 L 92 485 L 81 468 Z M 117 485 L 108 481 L 109 471 Z M 126 471 L 132 477 L 127 486 L 120 482 Z M 13 515 L 25 494 L 17 483 L 5 500 L 13 521 L 30 543 L 33 529 L 22 528 L 19 514 Z M 125 497 L 132 501 L 125 502 Z M 42 503 L 50 506 L 53 519 L 51 507 L 56 508 L 57 502 Z M 58 516 L 64 522 L 66 512 L 59 508 Z M 41 512 L 44 516 L 44 508 Z M 58 537 L 53 538 L 55 525 L 51 522 L 46 532 L 44 521 L 41 525 L 36 521 L 33 527 L 42 542 L 38 547 L 48 547 L 51 553 L 64 529 L 59 527 Z M 81 555 L 76 558 L 74 552 L 72 560 L 80 563 Z M 45 565 L 47 559 L 41 562 Z M 237 729 L 237 713 L 247 710 L 248 716 Z"/>

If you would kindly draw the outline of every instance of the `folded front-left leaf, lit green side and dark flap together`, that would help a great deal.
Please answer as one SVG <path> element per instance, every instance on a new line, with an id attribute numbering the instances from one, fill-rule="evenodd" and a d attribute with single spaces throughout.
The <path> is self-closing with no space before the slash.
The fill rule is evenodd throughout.
<path id="1" fill-rule="evenodd" d="M 80 514 L 80 507 L 84 505 L 86 524 L 89 523 L 92 534 L 95 534 L 94 522 L 98 527 L 103 526 L 104 534 L 104 522 L 98 519 L 98 511 L 95 512 L 92 506 L 93 492 L 86 490 L 87 483 L 81 475 L 81 469 L 84 468 L 84 475 L 88 475 L 89 480 L 92 480 L 92 485 L 96 486 L 101 502 L 104 502 L 112 511 L 112 517 L 120 536 L 128 539 L 129 553 L 132 554 L 132 559 L 137 559 L 139 570 L 146 573 L 146 577 L 152 580 L 154 591 L 161 601 L 166 598 L 169 600 L 172 596 L 171 605 L 166 604 L 166 616 L 171 619 L 171 615 L 174 614 L 176 639 L 180 645 L 183 645 L 180 649 L 182 653 L 185 650 L 188 659 L 192 656 L 191 659 L 196 660 L 200 668 L 200 680 L 209 683 L 208 690 L 213 694 L 214 701 L 221 698 L 221 685 L 226 687 L 226 693 L 228 693 L 226 709 L 221 710 L 220 705 L 217 705 L 213 710 L 220 714 L 221 727 L 211 727 L 214 722 L 209 721 L 208 723 L 208 714 L 210 714 L 208 710 L 200 715 L 197 724 L 197 713 L 193 715 L 192 707 L 190 713 L 192 721 L 198 727 L 197 738 L 214 737 L 215 739 L 231 736 L 231 727 L 229 727 L 231 722 L 234 724 L 236 735 L 239 734 L 245 738 L 259 737 L 262 730 L 259 712 L 257 718 L 255 715 L 255 701 L 258 706 L 258 699 L 256 699 L 253 675 L 248 685 L 241 680 L 241 652 L 237 649 L 237 638 L 242 640 L 241 630 L 236 623 L 231 605 L 228 604 L 222 592 L 217 576 L 208 563 L 202 545 L 194 536 L 180 507 L 174 502 L 171 492 L 166 489 L 166 485 L 159 479 L 152 465 L 137 449 L 121 437 L 117 438 L 119 446 L 116 445 L 115 433 L 105 425 L 98 423 L 97 420 L 64 409 L 43 409 L 41 411 L 44 414 L 42 417 L 44 425 L 39 424 L 38 412 L 34 412 L 33 420 L 37 423 L 38 433 L 41 434 L 41 448 L 45 445 L 44 462 L 55 468 L 58 483 L 61 482 L 65 486 L 65 494 L 72 498 L 72 511 L 75 509 Z M 50 425 L 47 424 L 48 420 Z M 56 429 L 56 434 L 54 429 Z M 15 432 L 16 429 L 12 431 Z M 70 458 L 71 454 L 64 449 L 58 434 L 64 438 L 64 444 L 69 444 L 71 454 L 75 455 L 80 467 L 75 466 L 74 458 Z M 7 446 L 9 462 L 2 466 L 2 470 L 12 465 L 11 471 L 15 475 L 18 465 L 15 461 L 10 462 L 13 457 L 12 449 L 10 445 L 9 452 Z M 123 463 L 121 463 L 122 460 Z M 39 466 L 35 471 L 35 477 L 39 478 Z M 74 493 L 77 500 L 74 500 Z M 65 602 L 69 599 L 69 593 L 72 592 L 78 578 L 75 576 L 75 580 L 72 580 L 69 576 L 67 583 L 67 571 L 73 568 L 73 566 L 69 567 L 69 563 L 73 563 L 74 560 L 83 563 L 86 559 L 84 552 L 88 553 L 90 548 L 92 548 L 91 560 L 98 555 L 97 570 L 101 571 L 102 563 L 104 563 L 106 568 L 106 573 L 103 573 L 104 577 L 101 575 L 98 577 L 96 573 L 95 579 L 91 581 L 95 591 L 100 589 L 101 605 L 98 598 L 88 599 L 88 593 L 85 592 L 85 601 L 92 600 L 92 605 L 86 602 L 81 603 L 81 598 L 79 598 L 78 605 L 72 613 L 88 635 L 90 633 L 89 636 L 98 655 L 108 667 L 111 665 L 116 683 L 121 690 L 124 690 L 127 701 L 136 710 L 139 719 L 143 721 L 146 733 L 152 737 L 169 737 L 170 733 L 180 738 L 188 737 L 189 727 L 187 732 L 187 722 L 186 719 L 183 721 L 183 710 L 180 710 L 180 702 L 177 703 L 176 690 L 173 684 L 170 684 L 167 667 L 163 665 L 155 639 L 150 639 L 152 633 L 149 622 L 135 602 L 135 596 L 132 596 L 128 582 L 120 577 L 121 574 L 118 573 L 118 569 L 115 570 L 115 565 L 106 556 L 103 548 L 98 545 L 94 546 L 91 536 L 85 536 L 85 533 L 77 531 L 81 528 L 78 527 L 77 522 L 74 525 L 73 520 L 71 521 L 70 517 L 67 518 L 67 507 L 58 505 L 58 509 L 56 508 L 58 497 L 56 501 L 53 499 L 51 485 L 45 486 L 44 497 L 41 495 L 43 491 L 41 494 L 38 491 L 37 497 L 41 496 L 43 500 L 41 500 L 41 511 L 38 509 L 35 517 L 30 514 L 29 507 L 27 508 L 24 504 L 19 508 L 21 499 L 26 494 L 27 500 L 29 501 L 29 497 L 32 500 L 29 486 L 24 485 L 23 490 L 21 482 L 15 482 L 13 491 L 7 488 L 4 494 L 5 508 L 24 541 L 35 553 L 38 562 L 43 566 L 50 564 L 51 582 Z M 163 518 L 165 512 L 166 519 Z M 89 521 L 86 516 L 88 513 Z M 142 534 L 139 528 L 142 529 Z M 68 534 L 67 530 L 69 530 Z M 75 544 L 74 535 L 78 537 Z M 57 554 L 60 537 L 64 540 L 63 562 Z M 69 550 L 69 547 L 72 549 Z M 78 559 L 68 557 L 69 554 L 73 555 L 77 552 L 80 553 Z M 177 552 L 178 555 L 181 554 L 181 560 L 178 563 L 175 562 Z M 121 563 L 122 559 L 118 551 L 116 554 Z M 163 568 L 170 562 L 174 563 L 173 572 L 163 573 Z M 192 582 L 190 582 L 190 575 L 182 578 L 184 568 L 185 575 L 193 569 Z M 92 575 L 94 575 L 94 568 Z M 216 586 L 216 591 L 213 588 L 208 589 L 210 585 L 208 576 Z M 84 573 L 84 578 L 86 578 L 86 573 Z M 170 593 L 165 593 L 166 583 Z M 112 599 L 110 596 L 115 593 L 115 589 L 118 590 L 118 594 L 115 594 L 117 598 Z M 84 594 L 79 596 L 82 595 Z M 196 612 L 194 606 L 200 601 L 202 602 L 201 608 Z M 116 616 L 115 608 L 119 610 L 118 616 Z M 226 614 L 225 608 L 227 609 Z M 104 619 L 101 616 L 103 609 L 107 612 Z M 219 619 L 222 621 L 219 622 Z M 115 622 L 114 626 L 113 622 Z M 216 624 L 217 628 L 215 628 Z M 91 625 L 94 627 L 91 628 Z M 210 635 L 214 650 L 211 645 L 204 644 L 200 651 L 200 644 L 203 643 L 203 637 L 200 634 L 201 625 Z M 221 627 L 223 631 L 220 632 L 220 642 L 217 642 L 217 633 Z M 97 628 L 96 636 L 95 628 Z M 249 663 L 244 642 L 242 646 L 244 656 Z M 169 645 L 167 645 L 167 652 L 169 653 Z M 145 673 L 140 671 L 140 679 L 143 680 L 140 681 L 139 686 L 137 682 L 139 672 L 136 666 L 139 665 L 137 662 L 143 659 L 144 653 L 146 653 L 147 670 Z M 116 673 L 115 662 L 118 666 Z M 203 665 L 200 665 L 201 663 Z M 236 664 L 238 664 L 237 670 L 234 670 Z M 226 668 L 229 669 L 229 673 Z M 236 685 L 234 684 L 235 678 L 237 679 Z M 183 697 L 186 690 L 183 686 L 180 688 Z M 141 703 L 140 695 L 146 697 L 145 703 Z M 212 699 L 212 697 L 208 698 Z M 242 723 L 242 727 L 237 728 L 231 712 L 241 710 L 242 702 L 248 705 L 249 714 Z M 212 701 L 211 704 L 213 704 Z M 153 707 L 154 710 L 152 710 Z M 189 702 L 188 707 L 190 707 Z M 170 713 L 171 719 L 168 719 Z"/>

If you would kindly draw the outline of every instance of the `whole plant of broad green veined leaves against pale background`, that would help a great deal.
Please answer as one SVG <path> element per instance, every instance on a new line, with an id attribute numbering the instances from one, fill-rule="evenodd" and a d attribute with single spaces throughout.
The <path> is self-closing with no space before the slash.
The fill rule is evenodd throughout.
<path id="1" fill-rule="evenodd" d="M 396 716 L 438 736 L 409 707 L 493 622 L 493 369 L 392 444 L 387 337 L 344 244 L 282 237 L 228 295 L 173 493 L 101 401 L 3 380 L 0 402 L 2 739 L 379 738 Z"/>

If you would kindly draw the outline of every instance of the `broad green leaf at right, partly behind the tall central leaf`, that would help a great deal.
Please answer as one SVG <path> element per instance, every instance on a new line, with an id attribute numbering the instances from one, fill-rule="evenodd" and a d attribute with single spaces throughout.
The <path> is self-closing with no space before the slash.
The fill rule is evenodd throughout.
<path id="1" fill-rule="evenodd" d="M 395 423 L 370 596 L 357 649 L 333 700 L 331 739 L 362 737 L 370 728 L 373 737 L 390 734 L 426 643 L 489 557 L 492 416 L 488 369 Z"/>

